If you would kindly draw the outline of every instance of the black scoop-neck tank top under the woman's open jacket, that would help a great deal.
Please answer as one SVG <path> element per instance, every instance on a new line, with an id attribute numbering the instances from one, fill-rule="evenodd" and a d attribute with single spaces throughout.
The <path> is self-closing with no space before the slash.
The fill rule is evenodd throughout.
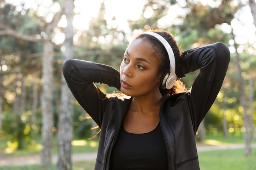
<path id="1" fill-rule="evenodd" d="M 167 170 L 167 151 L 160 124 L 148 133 L 134 134 L 121 125 L 111 152 L 110 170 Z"/>

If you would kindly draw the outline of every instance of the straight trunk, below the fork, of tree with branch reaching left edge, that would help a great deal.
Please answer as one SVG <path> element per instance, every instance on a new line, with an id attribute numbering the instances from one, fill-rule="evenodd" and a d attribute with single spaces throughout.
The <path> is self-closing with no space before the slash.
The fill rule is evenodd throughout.
<path id="1" fill-rule="evenodd" d="M 43 91 L 41 95 L 42 107 L 42 145 L 41 163 L 42 166 L 52 165 L 52 128 L 53 128 L 53 105 L 52 105 L 52 62 L 53 62 L 53 44 L 51 41 L 45 41 L 43 55 Z"/>

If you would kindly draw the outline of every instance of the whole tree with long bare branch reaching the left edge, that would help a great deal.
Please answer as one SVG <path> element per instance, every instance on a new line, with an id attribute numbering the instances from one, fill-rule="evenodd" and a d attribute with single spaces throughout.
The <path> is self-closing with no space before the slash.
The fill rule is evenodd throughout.
<path id="1" fill-rule="evenodd" d="M 52 33 L 54 28 L 57 26 L 58 21 L 61 18 L 61 13 L 54 15 L 51 22 L 45 24 L 45 38 L 38 39 L 35 35 L 29 35 L 22 33 L 12 28 L 8 28 L 2 22 L 0 22 L 0 28 L 2 29 L 0 35 L 11 35 L 17 39 L 22 39 L 30 42 L 38 42 L 43 44 L 43 92 L 41 95 L 42 103 L 42 145 L 43 149 L 41 152 L 41 163 L 42 166 L 50 166 L 52 164 L 52 128 L 53 128 L 53 104 L 52 104 L 52 62 L 54 55 L 54 45 L 52 43 Z M 38 18 L 41 20 L 41 18 Z"/>

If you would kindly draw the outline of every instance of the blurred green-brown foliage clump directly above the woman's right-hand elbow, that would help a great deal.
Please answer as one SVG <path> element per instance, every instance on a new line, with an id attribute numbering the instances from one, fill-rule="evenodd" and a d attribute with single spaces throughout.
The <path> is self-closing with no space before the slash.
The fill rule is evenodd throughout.
<path id="1" fill-rule="evenodd" d="M 228 44 L 231 34 L 224 33 L 218 28 L 220 24 L 230 24 L 234 18 L 231 11 L 236 7 L 223 2 L 220 7 L 213 8 L 193 1 L 187 2 L 186 8 L 190 11 L 181 25 L 177 25 L 182 44 L 210 44 L 223 42 Z M 225 17 L 223 17 L 225 15 Z"/>

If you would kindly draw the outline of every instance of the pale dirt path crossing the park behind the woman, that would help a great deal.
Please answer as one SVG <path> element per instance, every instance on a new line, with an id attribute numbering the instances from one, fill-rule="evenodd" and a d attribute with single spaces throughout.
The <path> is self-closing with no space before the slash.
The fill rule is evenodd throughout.
<path id="1" fill-rule="evenodd" d="M 244 144 L 226 144 L 226 145 L 199 145 L 197 146 L 198 151 L 210 151 L 210 150 L 224 150 L 224 149 L 237 149 L 245 148 Z M 252 148 L 256 148 L 256 144 L 252 144 Z M 86 153 L 75 153 L 72 155 L 72 161 L 85 161 L 85 160 L 95 160 L 97 157 L 97 152 L 86 152 Z M 52 163 L 57 163 L 57 155 L 53 155 Z M 22 166 L 40 164 L 40 155 L 31 155 L 24 157 L 10 157 L 0 154 L 0 167 L 2 166 Z"/>

